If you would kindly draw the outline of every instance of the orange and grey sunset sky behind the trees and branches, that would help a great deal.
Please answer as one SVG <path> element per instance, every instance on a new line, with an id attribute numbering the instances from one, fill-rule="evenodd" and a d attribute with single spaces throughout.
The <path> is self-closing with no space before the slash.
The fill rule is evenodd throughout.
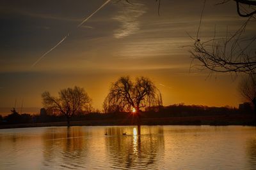
<path id="1" fill-rule="evenodd" d="M 147 76 L 176 103 L 238 106 L 241 76 L 193 67 L 193 45 L 204 1 L 1 0 L 0 108 L 42 108 L 41 94 L 75 85 L 102 103 L 120 76 Z M 246 18 L 236 4 L 206 1 L 200 39 L 235 32 Z M 88 18 L 89 17 L 89 18 Z M 88 20 L 86 20 L 88 19 Z M 255 35 L 255 22 L 246 28 Z M 216 29 L 214 29 L 216 28 Z M 192 62 L 192 63 L 191 63 Z M 209 76 L 211 74 L 211 76 Z"/>

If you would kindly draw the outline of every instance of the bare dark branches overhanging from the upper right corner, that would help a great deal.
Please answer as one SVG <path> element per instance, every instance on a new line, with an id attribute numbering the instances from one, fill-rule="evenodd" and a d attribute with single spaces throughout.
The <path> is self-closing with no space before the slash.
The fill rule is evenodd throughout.
<path id="1" fill-rule="evenodd" d="M 225 0 L 222 3 L 227 3 L 230 0 Z M 231 72 L 231 73 L 247 73 L 252 74 L 256 69 L 256 35 L 246 38 L 244 32 L 246 25 L 252 20 L 255 20 L 255 1 L 247 0 L 235 0 L 237 4 L 237 13 L 241 17 L 248 17 L 246 22 L 234 33 L 227 31 L 225 38 L 216 38 L 214 31 L 214 37 L 207 41 L 202 41 L 198 38 L 198 32 L 200 30 L 200 24 L 202 22 L 202 16 L 204 8 L 201 13 L 200 24 L 196 34 L 196 38 L 193 38 L 195 43 L 191 53 L 192 59 L 198 60 L 203 69 L 209 69 L 216 72 Z M 244 14 L 241 14 L 241 4 L 252 5 L 252 12 L 248 12 L 243 8 Z M 204 4 L 205 5 L 205 4 Z"/>

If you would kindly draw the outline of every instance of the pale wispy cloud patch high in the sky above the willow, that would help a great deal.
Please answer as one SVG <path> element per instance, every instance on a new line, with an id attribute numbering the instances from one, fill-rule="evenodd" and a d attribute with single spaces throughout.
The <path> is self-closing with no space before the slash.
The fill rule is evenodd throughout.
<path id="1" fill-rule="evenodd" d="M 124 38 L 140 30 L 138 18 L 146 13 L 147 8 L 140 3 L 118 3 L 120 10 L 116 13 L 113 20 L 121 23 L 120 27 L 114 31 L 115 38 Z"/>

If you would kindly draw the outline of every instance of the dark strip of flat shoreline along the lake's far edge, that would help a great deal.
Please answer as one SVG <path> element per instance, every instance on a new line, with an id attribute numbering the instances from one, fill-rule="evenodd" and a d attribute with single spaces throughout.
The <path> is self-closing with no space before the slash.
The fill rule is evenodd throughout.
<path id="1" fill-rule="evenodd" d="M 168 118 L 142 118 L 140 124 L 132 119 L 99 119 L 71 121 L 70 126 L 104 126 L 104 125 L 255 125 L 254 117 L 168 117 Z M 29 124 L 5 124 L 0 129 L 13 129 L 25 127 L 60 127 L 67 126 L 67 122 L 44 122 Z"/>

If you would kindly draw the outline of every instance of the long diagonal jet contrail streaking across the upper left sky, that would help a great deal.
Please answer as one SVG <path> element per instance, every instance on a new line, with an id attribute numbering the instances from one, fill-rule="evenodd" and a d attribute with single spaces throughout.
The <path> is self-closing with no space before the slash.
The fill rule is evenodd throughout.
<path id="1" fill-rule="evenodd" d="M 89 15 L 88 17 L 84 18 L 84 20 L 77 25 L 77 28 L 80 27 L 81 25 L 84 24 L 84 22 L 86 22 L 88 19 L 90 19 L 95 13 L 97 13 L 97 11 L 99 11 L 101 8 L 103 8 L 106 4 L 108 4 L 111 0 L 107 0 L 104 4 L 102 4 L 97 10 L 95 10 L 91 15 Z M 45 55 L 47 55 L 47 53 L 51 52 L 52 50 L 54 50 L 55 48 L 57 48 L 57 46 L 59 46 L 63 41 L 65 41 L 65 39 L 70 35 L 70 32 L 67 34 L 67 36 L 65 36 L 63 39 L 61 39 L 61 41 L 56 44 L 54 47 L 52 47 L 49 51 L 45 52 L 38 60 L 36 60 L 36 62 L 34 62 L 34 64 L 32 64 L 31 67 L 34 67 L 38 62 L 40 62 L 40 60 L 42 60 Z"/>

